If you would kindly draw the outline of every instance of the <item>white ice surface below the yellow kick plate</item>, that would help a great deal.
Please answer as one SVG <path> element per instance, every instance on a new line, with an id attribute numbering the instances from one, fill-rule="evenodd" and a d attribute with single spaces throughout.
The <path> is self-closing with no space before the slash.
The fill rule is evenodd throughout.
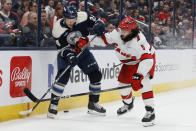
<path id="1" fill-rule="evenodd" d="M 196 87 L 155 94 L 156 125 L 143 127 L 145 114 L 141 97 L 134 109 L 117 116 L 121 101 L 103 104 L 107 114 L 92 116 L 87 108 L 59 112 L 56 119 L 46 115 L 0 123 L 0 131 L 196 131 Z"/>

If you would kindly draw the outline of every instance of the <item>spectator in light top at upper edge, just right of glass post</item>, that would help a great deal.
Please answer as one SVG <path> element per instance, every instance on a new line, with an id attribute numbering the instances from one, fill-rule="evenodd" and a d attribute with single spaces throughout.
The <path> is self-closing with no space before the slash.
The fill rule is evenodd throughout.
<path id="1" fill-rule="evenodd" d="M 48 5 L 45 7 L 46 10 L 46 19 L 51 20 L 54 17 L 54 0 L 49 0 Z"/>

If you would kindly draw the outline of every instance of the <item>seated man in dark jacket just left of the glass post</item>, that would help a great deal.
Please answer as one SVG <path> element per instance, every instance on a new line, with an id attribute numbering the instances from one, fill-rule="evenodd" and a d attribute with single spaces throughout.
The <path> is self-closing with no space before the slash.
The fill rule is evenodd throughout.
<path id="1" fill-rule="evenodd" d="M 28 24 L 22 29 L 22 46 L 35 47 L 37 43 L 37 14 L 33 11 L 28 13 Z"/>

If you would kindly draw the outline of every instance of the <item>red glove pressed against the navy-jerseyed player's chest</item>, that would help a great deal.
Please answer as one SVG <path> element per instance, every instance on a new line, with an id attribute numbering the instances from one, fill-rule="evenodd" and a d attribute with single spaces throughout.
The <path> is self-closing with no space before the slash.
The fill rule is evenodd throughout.
<path id="1" fill-rule="evenodd" d="M 75 45 L 75 52 L 79 53 L 84 47 L 85 45 L 88 43 L 89 38 L 88 37 L 81 37 Z"/>

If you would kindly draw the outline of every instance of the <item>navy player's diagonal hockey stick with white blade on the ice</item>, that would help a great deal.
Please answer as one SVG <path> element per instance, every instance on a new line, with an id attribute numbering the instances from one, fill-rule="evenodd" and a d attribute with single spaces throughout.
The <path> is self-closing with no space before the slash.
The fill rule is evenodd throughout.
<path id="1" fill-rule="evenodd" d="M 84 52 L 84 50 L 90 45 L 90 43 L 97 37 L 97 35 L 94 35 L 93 38 L 84 46 L 83 50 L 78 53 L 78 55 L 76 56 L 77 58 Z M 65 68 L 65 70 L 58 76 L 58 78 L 54 81 L 54 83 L 52 84 L 52 86 L 50 88 L 48 88 L 48 90 L 43 94 L 43 96 L 38 99 L 37 103 L 33 106 L 32 109 L 27 110 L 27 111 L 22 111 L 20 112 L 20 115 L 25 115 L 25 114 L 30 114 L 32 111 L 35 110 L 35 108 L 39 105 L 39 103 L 43 100 L 43 98 L 50 92 L 50 90 L 52 89 L 52 87 L 54 86 L 55 83 L 57 83 L 59 81 L 59 79 L 63 76 L 63 74 L 65 74 L 65 72 L 71 67 L 71 65 L 68 65 L 67 68 Z"/>

